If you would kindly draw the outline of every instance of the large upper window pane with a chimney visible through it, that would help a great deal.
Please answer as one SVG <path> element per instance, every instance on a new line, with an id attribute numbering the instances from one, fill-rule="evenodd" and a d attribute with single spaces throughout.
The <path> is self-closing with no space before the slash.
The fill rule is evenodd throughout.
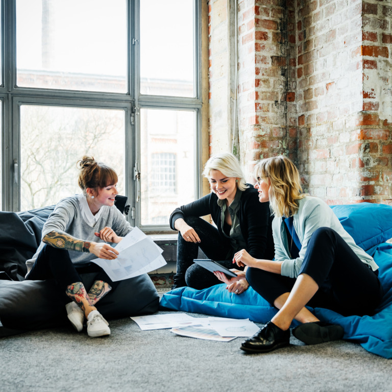
<path id="1" fill-rule="evenodd" d="M 127 92 L 126 0 L 16 0 L 20 87 Z"/>

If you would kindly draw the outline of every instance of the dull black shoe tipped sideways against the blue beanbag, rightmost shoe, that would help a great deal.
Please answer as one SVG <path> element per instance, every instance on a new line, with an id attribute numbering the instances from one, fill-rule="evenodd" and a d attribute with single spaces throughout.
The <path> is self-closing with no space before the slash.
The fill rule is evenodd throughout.
<path id="1" fill-rule="evenodd" d="M 307 345 L 318 345 L 326 341 L 340 340 L 345 331 L 337 324 L 323 323 L 304 323 L 292 330 L 292 334 Z"/>

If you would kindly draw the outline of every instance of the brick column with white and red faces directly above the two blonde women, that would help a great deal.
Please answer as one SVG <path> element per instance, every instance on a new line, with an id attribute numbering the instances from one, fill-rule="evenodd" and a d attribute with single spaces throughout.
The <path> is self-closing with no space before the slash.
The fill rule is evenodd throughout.
<path id="1" fill-rule="evenodd" d="M 238 8 L 240 153 L 251 177 L 260 158 L 297 157 L 295 13 L 269 0 L 240 0 Z"/>

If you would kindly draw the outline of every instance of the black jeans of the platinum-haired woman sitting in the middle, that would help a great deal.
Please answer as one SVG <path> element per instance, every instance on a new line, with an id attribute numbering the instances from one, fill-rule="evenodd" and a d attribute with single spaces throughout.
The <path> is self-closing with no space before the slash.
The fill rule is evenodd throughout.
<path id="1" fill-rule="evenodd" d="M 198 233 L 200 243 L 188 242 L 178 233 L 177 241 L 177 277 L 185 278 L 186 285 L 201 290 L 222 283 L 215 275 L 193 259 L 198 258 L 199 248 L 205 255 L 227 268 L 238 268 L 233 264 L 234 251 L 229 238 L 222 238 L 216 227 L 199 217 L 187 217 L 185 222 Z"/>

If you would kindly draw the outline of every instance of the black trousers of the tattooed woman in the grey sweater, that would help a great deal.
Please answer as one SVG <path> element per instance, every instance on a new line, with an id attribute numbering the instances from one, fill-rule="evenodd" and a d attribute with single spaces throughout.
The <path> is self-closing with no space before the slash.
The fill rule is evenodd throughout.
<path id="1" fill-rule="evenodd" d="M 72 283 L 82 282 L 79 274 L 96 272 L 96 280 L 109 283 L 112 289 L 118 282 L 112 282 L 105 271 L 97 264 L 91 263 L 82 267 L 75 267 L 67 250 L 44 245 L 38 254 L 27 280 L 55 279 L 59 288 L 64 290 Z M 86 287 L 88 291 L 89 288 Z"/>

